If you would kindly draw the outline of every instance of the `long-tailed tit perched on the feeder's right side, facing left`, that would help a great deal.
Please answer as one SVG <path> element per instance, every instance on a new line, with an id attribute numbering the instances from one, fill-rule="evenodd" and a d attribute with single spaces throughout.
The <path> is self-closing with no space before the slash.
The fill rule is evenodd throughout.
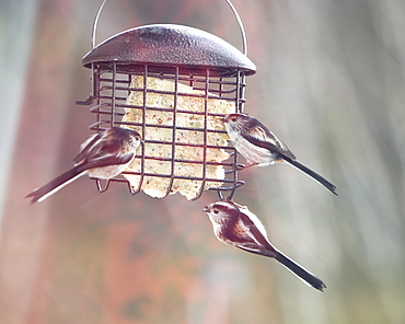
<path id="1" fill-rule="evenodd" d="M 336 186 L 297 161 L 296 155 L 259 120 L 246 114 L 230 114 L 223 118 L 228 135 L 239 153 L 251 164 L 266 166 L 288 163 L 302 171 L 337 196 Z"/>

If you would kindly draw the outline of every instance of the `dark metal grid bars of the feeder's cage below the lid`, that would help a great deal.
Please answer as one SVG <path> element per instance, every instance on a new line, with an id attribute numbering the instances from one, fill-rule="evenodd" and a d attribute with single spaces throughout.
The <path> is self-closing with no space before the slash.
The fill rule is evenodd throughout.
<path id="1" fill-rule="evenodd" d="M 146 157 L 144 155 L 144 152 L 143 152 L 143 147 L 141 147 L 141 152 L 140 154 L 138 155 L 138 158 L 141 159 L 141 171 L 140 172 L 127 172 L 127 174 L 135 174 L 135 175 L 140 175 L 141 177 L 141 181 L 139 182 L 139 186 L 138 188 L 131 188 L 131 194 L 137 194 L 140 192 L 141 189 L 141 185 L 142 185 L 142 180 L 146 177 L 146 176 L 158 176 L 158 177 L 162 177 L 162 178 L 170 178 L 171 182 L 170 182 L 170 186 L 167 187 L 167 192 L 166 192 L 166 195 L 170 194 L 170 187 L 173 185 L 173 181 L 175 178 L 177 180 L 194 180 L 194 181 L 201 181 L 201 185 L 200 185 L 200 189 L 199 189 L 199 193 L 198 195 L 196 196 L 195 199 L 197 199 L 198 197 L 200 197 L 200 195 L 202 194 L 202 188 L 205 187 L 205 184 L 208 182 L 218 182 L 219 180 L 218 178 L 210 178 L 210 177 L 207 177 L 206 176 L 206 169 L 202 167 L 202 176 L 200 177 L 190 177 L 190 176 L 182 176 L 182 175 L 175 175 L 174 174 L 174 164 L 177 163 L 177 162 L 181 162 L 181 163 L 192 163 L 192 164 L 201 164 L 201 165 L 221 165 L 225 169 L 225 173 L 227 173 L 227 177 L 229 177 L 229 175 L 231 174 L 231 178 L 223 178 L 223 180 L 220 180 L 223 185 L 221 187 L 215 187 L 215 188 L 209 188 L 209 189 L 216 189 L 216 190 L 219 190 L 219 192 L 231 192 L 233 194 L 233 192 L 235 190 L 235 188 L 240 187 L 241 185 L 243 185 L 243 182 L 239 181 L 238 180 L 238 161 L 236 161 L 236 154 L 234 154 L 234 152 L 231 152 L 230 154 L 232 155 L 232 159 L 234 161 L 224 161 L 224 162 L 209 162 L 207 161 L 207 154 L 206 154 L 206 150 L 209 149 L 209 148 L 215 148 L 215 149 L 224 149 L 224 150 L 231 150 L 232 151 L 232 148 L 230 147 L 227 147 L 227 146 L 210 146 L 207 143 L 207 135 L 209 132 L 220 132 L 220 134 L 224 134 L 225 131 L 224 130 L 212 130 L 212 129 L 208 129 L 207 128 L 207 117 L 208 116 L 221 116 L 221 114 L 212 114 L 212 113 L 209 113 L 208 112 L 208 100 L 209 99 L 223 99 L 223 100 L 232 100 L 235 102 L 235 107 L 236 107 L 236 111 L 240 111 L 241 107 L 243 106 L 244 104 L 244 99 L 243 99 L 243 89 L 245 86 L 244 82 L 241 82 L 241 80 L 239 78 L 236 78 L 236 82 L 233 81 L 229 81 L 229 80 L 225 80 L 225 78 L 219 78 L 218 80 L 210 80 L 210 71 L 209 69 L 206 69 L 206 76 L 204 79 L 201 78 L 196 78 L 196 76 L 184 76 L 184 74 L 180 74 L 178 72 L 178 68 L 175 68 L 175 73 L 174 76 L 171 76 L 171 74 L 157 74 L 157 73 L 150 73 L 149 70 L 148 70 L 148 66 L 146 65 L 143 67 L 143 72 L 142 73 L 127 73 L 126 76 L 126 80 L 121 80 L 121 79 L 117 79 L 117 68 L 116 68 L 116 62 L 114 62 L 113 67 L 112 67 L 112 76 L 111 77 L 106 77 L 106 76 L 103 76 L 103 73 L 105 73 L 105 71 L 101 71 L 100 68 L 96 68 L 95 69 L 97 72 L 95 73 L 95 78 L 94 80 L 96 80 L 97 82 L 95 82 L 95 88 L 94 88 L 94 93 L 93 93 L 93 97 L 97 100 L 97 105 L 92 107 L 91 108 L 91 113 L 94 113 L 96 115 L 96 123 L 92 124 L 91 125 L 91 128 L 94 129 L 94 130 L 101 130 L 101 129 L 104 129 L 107 127 L 107 125 L 109 124 L 111 126 L 112 125 L 116 125 L 116 126 L 128 126 L 128 125 L 132 125 L 132 126 L 140 126 L 142 128 L 142 138 L 144 138 L 144 129 L 147 127 L 159 127 L 159 128 L 172 128 L 173 130 L 173 136 L 172 136 L 172 141 L 170 142 L 162 142 L 162 141 L 149 141 L 150 143 L 163 143 L 163 144 L 171 144 L 172 146 L 172 159 L 160 159 L 162 161 L 170 161 L 171 162 L 171 173 L 167 175 L 167 174 L 153 174 L 153 173 L 148 173 L 148 172 L 144 172 L 144 163 L 147 160 L 159 160 L 157 158 L 153 158 L 153 157 Z M 134 76 L 137 76 L 137 74 L 141 74 L 143 77 L 143 89 L 134 89 L 130 86 L 130 80 Z M 175 91 L 174 93 L 172 92 L 169 92 L 169 91 L 159 91 L 159 90 L 150 90 L 148 89 L 147 86 L 147 78 L 150 77 L 150 76 L 159 76 L 159 77 L 164 77 L 165 79 L 167 80 L 174 80 L 174 83 L 177 84 L 177 82 L 180 81 L 186 81 L 188 82 L 188 84 L 190 85 L 194 85 L 196 83 L 201 83 L 204 81 L 204 86 L 199 86 L 197 88 L 198 90 L 202 90 L 205 89 L 204 91 L 204 95 L 202 94 L 190 94 L 190 93 L 181 93 L 178 92 L 178 86 L 175 85 Z M 108 85 L 109 83 L 109 85 Z M 218 84 L 218 89 L 210 89 L 210 84 Z M 127 85 L 127 86 L 126 86 Z M 228 89 L 225 89 L 225 86 L 228 86 Z M 109 94 L 103 94 L 103 92 L 105 91 L 109 91 Z M 142 118 L 142 123 L 124 123 L 124 121 L 120 121 L 118 119 L 116 119 L 117 117 L 121 118 L 125 113 L 123 112 L 124 108 L 134 108 L 132 105 L 127 105 L 127 104 L 123 104 L 121 102 L 126 99 L 125 96 L 119 96 L 117 94 L 117 92 L 121 92 L 121 91 L 126 91 L 126 93 L 130 93 L 131 91 L 142 91 L 143 92 L 143 105 L 142 106 L 135 106 L 135 108 L 141 108 L 142 111 L 142 114 L 143 114 L 143 118 Z M 161 108 L 161 107 L 148 107 L 147 105 L 147 94 L 148 92 L 154 92 L 154 93 L 161 93 L 161 94 L 174 94 L 174 100 L 175 100 L 175 107 L 173 109 L 167 109 L 167 108 Z M 216 93 L 216 95 L 212 95 L 212 92 Z M 232 94 L 234 94 L 234 96 L 232 96 Z M 204 96 L 205 99 L 205 106 L 204 106 L 204 112 L 189 112 L 187 109 L 181 109 L 181 108 L 176 108 L 176 101 L 177 101 L 177 97 L 181 96 L 181 95 L 186 95 L 186 96 L 196 96 L 196 97 L 200 97 L 200 96 Z M 148 124 L 146 118 L 144 118 L 144 114 L 147 111 L 166 111 L 166 112 L 173 112 L 174 115 L 173 115 L 173 119 L 174 119 L 174 126 L 171 127 L 171 126 L 166 126 L 166 125 L 154 125 L 154 124 Z M 196 115 L 204 115 L 205 118 L 205 126 L 204 126 L 204 140 L 202 140 L 202 144 L 200 143 L 176 143 L 175 142 L 175 132 L 176 130 L 193 130 L 193 131 L 201 131 L 200 128 L 193 128 L 193 127 L 182 127 L 182 126 L 175 126 L 175 118 L 176 118 L 176 114 L 177 113 L 185 113 L 185 114 L 196 114 Z M 105 118 L 107 117 L 107 118 Z M 182 147 L 182 146 L 185 146 L 185 147 L 196 147 L 196 148 L 199 148 L 202 146 L 204 148 L 204 157 L 202 157 L 202 161 L 188 161 L 188 160 L 182 160 L 182 159 L 174 159 L 175 157 L 175 148 L 176 147 Z M 111 180 L 111 182 L 126 182 L 126 180 L 124 178 L 113 178 Z M 107 183 L 107 186 L 109 185 L 109 182 Z M 97 187 L 100 190 L 105 190 L 106 187 L 102 188 L 101 185 L 100 185 L 100 181 L 97 181 Z"/>

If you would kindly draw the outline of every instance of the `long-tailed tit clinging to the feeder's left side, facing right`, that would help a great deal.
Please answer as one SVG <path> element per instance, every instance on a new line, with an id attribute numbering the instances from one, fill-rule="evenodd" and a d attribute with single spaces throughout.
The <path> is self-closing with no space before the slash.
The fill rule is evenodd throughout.
<path id="1" fill-rule="evenodd" d="M 109 180 L 129 165 L 140 142 L 140 135 L 127 128 L 112 127 L 95 134 L 81 144 L 72 169 L 36 188 L 25 198 L 31 198 L 31 204 L 43 201 L 83 174 Z"/>

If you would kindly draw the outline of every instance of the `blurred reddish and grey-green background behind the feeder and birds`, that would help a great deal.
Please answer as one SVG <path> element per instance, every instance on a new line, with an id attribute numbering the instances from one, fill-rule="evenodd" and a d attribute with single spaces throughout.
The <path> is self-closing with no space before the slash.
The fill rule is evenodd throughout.
<path id="1" fill-rule="evenodd" d="M 99 194 L 82 177 L 30 206 L 91 135 L 74 102 L 101 0 L 0 0 L 1 323 L 405 323 L 405 2 L 233 2 L 257 66 L 246 112 L 339 193 L 278 164 L 241 173 L 235 200 L 327 289 L 218 242 L 201 212 L 215 192 Z M 224 0 L 109 0 L 97 43 L 150 23 L 241 48 Z"/>

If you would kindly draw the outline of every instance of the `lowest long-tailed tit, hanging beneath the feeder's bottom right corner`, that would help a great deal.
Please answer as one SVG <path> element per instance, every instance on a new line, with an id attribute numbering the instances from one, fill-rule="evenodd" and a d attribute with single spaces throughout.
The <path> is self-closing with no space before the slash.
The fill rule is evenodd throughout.
<path id="1" fill-rule="evenodd" d="M 232 200 L 221 200 L 206 206 L 205 211 L 213 228 L 217 239 L 225 244 L 246 252 L 273 257 L 296 274 L 306 285 L 323 291 L 326 285 L 299 264 L 284 255 L 267 239 L 267 233 L 259 219 L 247 207 Z"/>

